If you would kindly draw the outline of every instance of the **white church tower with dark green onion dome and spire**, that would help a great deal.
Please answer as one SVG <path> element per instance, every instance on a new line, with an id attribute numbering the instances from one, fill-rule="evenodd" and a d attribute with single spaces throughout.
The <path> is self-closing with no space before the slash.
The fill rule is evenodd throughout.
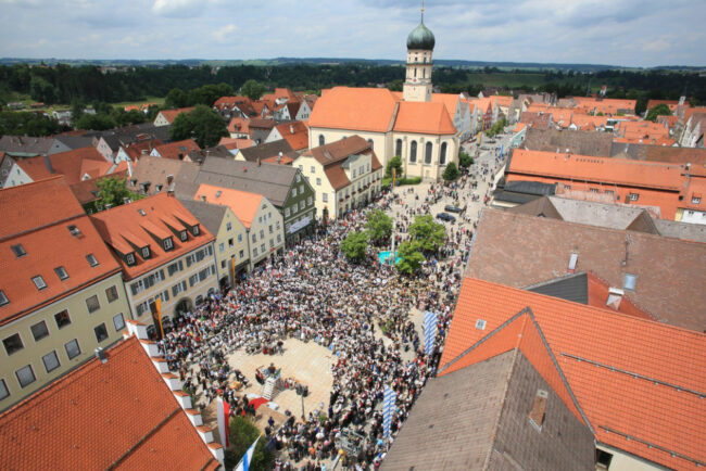
<path id="1" fill-rule="evenodd" d="M 402 97 L 404 101 L 431 101 L 431 53 L 434 47 L 433 34 L 421 22 L 407 36 L 407 75 Z"/>

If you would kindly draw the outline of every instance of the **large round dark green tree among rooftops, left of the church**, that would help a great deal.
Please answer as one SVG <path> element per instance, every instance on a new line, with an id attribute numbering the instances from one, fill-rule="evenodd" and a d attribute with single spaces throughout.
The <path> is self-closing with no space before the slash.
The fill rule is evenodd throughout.
<path id="1" fill-rule="evenodd" d="M 228 129 L 213 109 L 200 104 L 189 113 L 181 113 L 172 123 L 169 137 L 175 141 L 192 138 L 203 148 L 211 148 L 220 138 L 228 136 Z"/>

